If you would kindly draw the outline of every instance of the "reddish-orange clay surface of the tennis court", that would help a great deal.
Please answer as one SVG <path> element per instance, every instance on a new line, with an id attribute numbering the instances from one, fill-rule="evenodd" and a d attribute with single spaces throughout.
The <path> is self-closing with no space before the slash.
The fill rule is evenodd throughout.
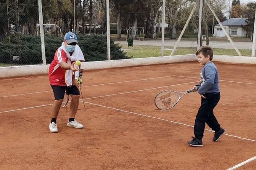
<path id="1" fill-rule="evenodd" d="M 154 97 L 199 82 L 197 62 L 84 71 L 86 111 L 67 127 L 60 110 L 50 133 L 53 92 L 47 75 L 0 79 L 0 169 L 228 169 L 256 155 L 255 65 L 215 63 L 221 100 L 214 109 L 226 135 L 190 147 L 197 92 L 160 111 Z M 82 102 L 79 108 L 82 108 Z M 205 127 L 210 130 L 208 126 Z M 230 136 L 233 135 L 233 136 Z M 255 169 L 256 160 L 241 169 Z"/>

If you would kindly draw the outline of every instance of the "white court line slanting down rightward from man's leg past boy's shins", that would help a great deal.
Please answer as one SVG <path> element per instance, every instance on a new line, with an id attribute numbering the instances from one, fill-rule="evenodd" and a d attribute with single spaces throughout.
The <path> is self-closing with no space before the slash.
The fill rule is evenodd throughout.
<path id="1" fill-rule="evenodd" d="M 116 110 L 116 111 L 121 111 L 121 112 L 131 113 L 131 114 L 134 114 L 134 115 L 139 115 L 139 116 L 144 116 L 144 117 L 148 117 L 148 118 L 153 118 L 153 119 L 163 120 L 163 121 L 167 121 L 167 122 L 171 122 L 171 123 L 176 123 L 176 124 L 181 124 L 181 125 L 185 125 L 185 126 L 189 126 L 189 127 L 194 128 L 194 126 L 192 126 L 192 125 L 188 125 L 188 124 L 185 124 L 185 123 L 180 123 L 180 122 L 175 122 L 175 121 L 171 121 L 171 120 L 166 120 L 166 119 L 162 119 L 162 118 L 158 118 L 158 117 L 147 116 L 147 115 L 143 115 L 143 114 L 139 114 L 139 113 L 134 113 L 134 112 L 124 111 L 124 110 L 119 109 L 119 108 L 103 106 L 103 105 L 99 105 L 99 104 L 96 104 L 96 103 L 90 103 L 90 102 L 85 102 L 85 101 L 80 101 L 80 102 L 84 102 L 84 103 L 87 103 L 87 104 L 96 105 L 96 106 L 99 106 L 99 107 L 105 107 L 105 108 L 113 109 L 113 110 Z M 209 130 L 209 129 L 204 129 L 204 130 L 209 131 L 209 132 L 214 132 L 214 131 Z M 247 138 L 243 138 L 243 137 L 239 137 L 239 136 L 229 135 L 229 134 L 226 134 L 226 133 L 224 133 L 224 135 L 231 136 L 231 137 L 238 138 L 238 139 L 250 140 L 250 141 L 256 142 L 256 140 L 253 140 L 253 139 L 247 139 Z"/>

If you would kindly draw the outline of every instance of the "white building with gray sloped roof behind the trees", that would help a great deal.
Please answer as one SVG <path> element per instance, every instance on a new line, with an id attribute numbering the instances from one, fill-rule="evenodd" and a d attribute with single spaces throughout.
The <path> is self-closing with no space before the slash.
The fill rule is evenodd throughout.
<path id="1" fill-rule="evenodd" d="M 246 19 L 247 18 L 230 18 L 226 21 L 222 22 L 223 27 L 225 28 L 225 31 L 231 36 L 231 37 L 245 37 L 246 31 L 242 28 L 242 26 L 246 25 Z M 230 26 L 230 30 L 229 30 Z M 225 33 L 222 30 L 221 26 L 219 24 L 216 24 L 214 27 L 214 34 L 215 37 L 225 37 Z"/>

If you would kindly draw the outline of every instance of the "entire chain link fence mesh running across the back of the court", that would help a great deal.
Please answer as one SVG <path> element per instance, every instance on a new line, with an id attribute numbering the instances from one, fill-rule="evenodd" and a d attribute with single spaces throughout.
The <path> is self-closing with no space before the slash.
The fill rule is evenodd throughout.
<path id="1" fill-rule="evenodd" d="M 86 61 L 107 60 L 106 2 L 106 0 L 42 1 L 46 64 L 53 60 L 55 51 L 61 46 L 63 36 L 67 32 L 77 34 Z M 111 60 L 161 56 L 162 30 L 165 30 L 164 55 L 170 55 L 195 4 L 188 1 L 167 1 L 165 23 L 162 25 L 162 0 L 109 0 L 109 2 Z M 209 0 L 209 2 L 221 21 L 227 19 L 223 13 L 224 0 L 218 2 Z M 0 1 L 0 67 L 43 63 L 38 9 L 38 0 Z M 178 45 L 174 55 L 191 54 L 196 51 L 198 13 L 197 6 L 182 36 L 183 41 Z M 254 13 L 253 6 L 251 14 Z M 248 16 L 248 21 L 250 18 L 252 23 L 254 18 Z M 217 35 L 220 29 L 214 29 L 218 22 L 207 5 L 203 8 L 203 20 L 207 21 L 207 27 L 202 23 L 203 45 L 208 43 L 210 36 L 210 43 L 227 41 L 225 37 L 222 39 L 212 37 L 212 34 Z M 252 32 L 242 26 L 241 28 L 243 33 Z M 238 33 L 238 31 L 230 32 Z M 237 37 L 232 39 L 242 41 Z M 249 38 L 243 40 L 250 41 Z M 250 56 L 250 53 L 251 51 L 247 50 L 242 54 Z M 219 50 L 218 54 L 236 55 L 236 52 L 231 47 L 228 50 Z"/>

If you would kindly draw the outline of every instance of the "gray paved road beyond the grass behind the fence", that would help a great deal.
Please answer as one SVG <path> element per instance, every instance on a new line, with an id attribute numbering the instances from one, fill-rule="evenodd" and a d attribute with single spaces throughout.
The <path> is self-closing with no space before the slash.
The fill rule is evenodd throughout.
<path id="1" fill-rule="evenodd" d="M 127 44 L 126 41 L 115 41 L 115 43 L 119 44 Z M 176 44 L 176 40 L 165 40 L 165 46 L 174 46 Z M 205 41 L 203 41 L 205 45 Z M 234 45 L 238 49 L 252 49 L 252 42 L 234 42 Z M 133 41 L 133 45 L 150 45 L 150 46 L 161 46 L 161 40 L 147 40 L 147 41 Z M 197 41 L 185 41 L 182 40 L 178 44 L 178 47 L 196 47 Z M 223 41 L 210 41 L 209 46 L 212 48 L 225 48 L 225 49 L 233 49 L 233 46 L 230 42 Z"/>

